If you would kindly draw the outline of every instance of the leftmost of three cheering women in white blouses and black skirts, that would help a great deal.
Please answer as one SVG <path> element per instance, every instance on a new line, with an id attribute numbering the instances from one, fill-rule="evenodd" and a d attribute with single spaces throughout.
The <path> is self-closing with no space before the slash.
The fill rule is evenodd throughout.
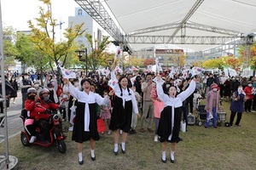
<path id="1" fill-rule="evenodd" d="M 90 157 L 92 161 L 96 160 L 94 153 L 96 147 L 96 140 L 99 140 L 99 133 L 97 132 L 96 125 L 96 103 L 103 105 L 108 101 L 107 97 L 102 98 L 99 94 L 90 92 L 90 80 L 81 80 L 81 86 L 83 91 L 78 88 L 74 88 L 72 83 L 64 79 L 69 87 L 70 94 L 78 99 L 78 105 L 76 109 L 76 117 L 73 125 L 72 140 L 77 143 L 77 149 L 79 151 L 79 164 L 84 163 L 82 156 L 83 142 L 90 140 Z"/>

